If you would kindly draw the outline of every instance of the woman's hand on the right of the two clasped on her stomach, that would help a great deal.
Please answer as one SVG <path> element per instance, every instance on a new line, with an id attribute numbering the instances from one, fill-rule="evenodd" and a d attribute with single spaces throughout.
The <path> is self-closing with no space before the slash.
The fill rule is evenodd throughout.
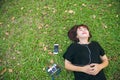
<path id="1" fill-rule="evenodd" d="M 97 64 L 97 63 L 92 63 L 90 64 L 91 66 L 91 75 L 97 75 L 101 70 L 101 65 L 100 64 Z"/>

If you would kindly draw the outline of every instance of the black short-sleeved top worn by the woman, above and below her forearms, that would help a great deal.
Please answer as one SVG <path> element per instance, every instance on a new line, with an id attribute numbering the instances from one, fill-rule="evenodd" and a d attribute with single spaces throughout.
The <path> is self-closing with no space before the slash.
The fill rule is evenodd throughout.
<path id="1" fill-rule="evenodd" d="M 72 43 L 64 53 L 63 58 L 74 65 L 85 66 L 91 63 L 101 63 L 100 56 L 104 54 L 104 50 L 99 43 L 92 41 L 89 44 Z M 106 80 L 102 70 L 96 76 L 82 72 L 74 72 L 74 75 L 75 80 Z"/>

